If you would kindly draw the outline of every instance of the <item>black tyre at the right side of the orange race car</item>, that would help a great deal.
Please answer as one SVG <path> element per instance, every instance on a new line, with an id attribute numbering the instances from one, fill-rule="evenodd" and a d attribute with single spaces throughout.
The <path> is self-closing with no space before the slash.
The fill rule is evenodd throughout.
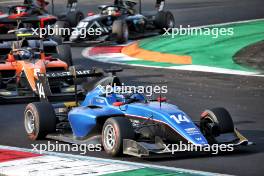
<path id="1" fill-rule="evenodd" d="M 58 53 L 58 58 L 63 62 L 65 62 L 68 65 L 68 67 L 73 65 L 70 45 L 58 45 L 57 53 Z"/>

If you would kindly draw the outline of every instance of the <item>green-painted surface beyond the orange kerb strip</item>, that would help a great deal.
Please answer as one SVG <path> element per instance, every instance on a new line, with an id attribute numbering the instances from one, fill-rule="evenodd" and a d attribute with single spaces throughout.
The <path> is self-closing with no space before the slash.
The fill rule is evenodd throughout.
<path id="1" fill-rule="evenodd" d="M 264 40 L 264 20 L 215 28 L 233 28 L 234 35 L 222 35 L 218 38 L 213 38 L 212 34 L 178 35 L 175 38 L 169 35 L 158 36 L 140 41 L 140 47 L 168 54 L 189 55 L 192 56 L 194 65 L 253 71 L 251 68 L 236 64 L 233 61 L 233 56 L 242 48 Z M 167 66 L 166 63 L 163 65 Z"/>

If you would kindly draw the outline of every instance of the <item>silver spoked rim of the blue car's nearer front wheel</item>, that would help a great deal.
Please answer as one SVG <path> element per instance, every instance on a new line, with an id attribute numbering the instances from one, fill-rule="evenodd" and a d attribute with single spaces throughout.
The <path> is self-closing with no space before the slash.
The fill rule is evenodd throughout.
<path id="1" fill-rule="evenodd" d="M 110 124 L 104 130 L 104 144 L 107 150 L 112 150 L 116 144 L 115 129 Z"/>

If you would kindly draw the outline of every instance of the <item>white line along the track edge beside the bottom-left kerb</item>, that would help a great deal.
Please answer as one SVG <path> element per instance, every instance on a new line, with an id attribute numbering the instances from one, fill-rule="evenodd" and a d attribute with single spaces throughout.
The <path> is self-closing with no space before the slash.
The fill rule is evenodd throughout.
<path id="1" fill-rule="evenodd" d="M 18 148 L 18 147 L 9 147 L 9 146 L 0 145 L 0 149 L 33 153 L 32 150 L 30 149 L 24 149 L 24 148 Z M 187 172 L 187 173 L 200 174 L 200 175 L 206 175 L 206 176 L 227 176 L 226 174 L 203 172 L 203 171 L 197 171 L 197 170 L 191 170 L 191 169 L 173 168 L 173 167 L 166 167 L 166 166 L 142 164 L 142 163 L 119 161 L 119 160 L 112 160 L 112 159 L 103 159 L 103 158 L 96 158 L 96 157 L 90 157 L 90 156 L 79 156 L 79 155 L 64 154 L 64 153 L 57 153 L 57 152 L 42 152 L 42 154 L 49 155 L 49 156 L 57 156 L 57 157 L 62 157 L 62 158 L 91 160 L 91 161 L 107 162 L 107 163 L 114 163 L 114 164 L 125 164 L 125 165 L 135 166 L 135 167 L 147 167 L 147 168 L 163 169 L 163 170 L 175 171 L 175 172 Z"/>

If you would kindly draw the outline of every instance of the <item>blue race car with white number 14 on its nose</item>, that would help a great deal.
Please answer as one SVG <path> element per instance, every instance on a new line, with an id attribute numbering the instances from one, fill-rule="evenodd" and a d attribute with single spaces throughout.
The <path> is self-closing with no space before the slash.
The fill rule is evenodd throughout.
<path id="1" fill-rule="evenodd" d="M 251 144 L 234 127 L 224 108 L 204 111 L 200 122 L 195 124 L 164 98 L 148 100 L 139 93 L 106 94 L 102 87 L 109 85 L 120 86 L 119 78 L 112 75 L 100 80 L 80 104 L 30 103 L 25 109 L 27 135 L 32 140 L 100 143 L 111 156 L 149 157 L 168 153 L 167 144 L 179 142 L 195 146 Z"/>

